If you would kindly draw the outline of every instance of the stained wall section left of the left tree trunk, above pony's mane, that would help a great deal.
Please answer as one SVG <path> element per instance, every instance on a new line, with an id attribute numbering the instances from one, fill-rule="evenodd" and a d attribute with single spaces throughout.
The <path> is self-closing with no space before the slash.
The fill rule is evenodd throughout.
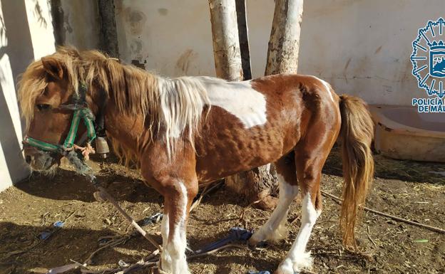
<path id="1" fill-rule="evenodd" d="M 120 58 L 160 74 L 215 75 L 208 1 L 116 0 Z"/>

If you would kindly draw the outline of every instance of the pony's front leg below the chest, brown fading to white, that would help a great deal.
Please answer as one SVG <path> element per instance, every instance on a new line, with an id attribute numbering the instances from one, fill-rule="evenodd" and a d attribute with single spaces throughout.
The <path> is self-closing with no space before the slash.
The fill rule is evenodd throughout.
<path id="1" fill-rule="evenodd" d="M 193 198 L 198 193 L 198 181 L 185 182 L 178 179 L 171 180 L 171 186 L 165 191 L 165 208 L 168 214 L 167 243 L 163 243 L 165 255 L 161 260 L 161 267 L 173 274 L 188 274 L 185 248 L 187 246 L 186 227 L 188 211 Z M 165 222 L 165 226 L 167 221 Z M 163 241 L 165 238 L 163 237 Z M 170 264 L 171 262 L 171 264 Z M 165 265 L 164 263 L 168 264 Z"/>

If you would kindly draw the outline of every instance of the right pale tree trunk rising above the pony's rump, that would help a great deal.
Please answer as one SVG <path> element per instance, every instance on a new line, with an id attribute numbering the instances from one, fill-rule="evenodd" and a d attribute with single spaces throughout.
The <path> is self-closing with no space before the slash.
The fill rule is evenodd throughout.
<path id="1" fill-rule="evenodd" d="M 265 75 L 297 73 L 303 0 L 275 0 Z"/>

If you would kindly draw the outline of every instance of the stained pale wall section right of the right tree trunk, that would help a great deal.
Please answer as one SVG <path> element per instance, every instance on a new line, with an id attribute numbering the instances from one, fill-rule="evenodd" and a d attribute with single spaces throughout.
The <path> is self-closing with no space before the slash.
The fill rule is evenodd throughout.
<path id="1" fill-rule="evenodd" d="M 411 75 L 411 43 L 443 0 L 305 1 L 300 73 L 372 104 L 411 105 L 424 96 Z"/>

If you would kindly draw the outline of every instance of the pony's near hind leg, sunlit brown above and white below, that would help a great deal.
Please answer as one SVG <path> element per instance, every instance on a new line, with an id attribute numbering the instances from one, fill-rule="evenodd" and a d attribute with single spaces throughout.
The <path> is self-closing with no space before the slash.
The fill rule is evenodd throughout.
<path id="1" fill-rule="evenodd" d="M 306 245 L 312 228 L 322 212 L 319 189 L 322 167 L 337 137 L 335 131 L 320 130 L 320 128 L 322 125 L 314 124 L 313 130 L 307 132 L 305 139 L 295 147 L 297 179 L 302 191 L 301 225 L 292 248 L 275 274 L 293 274 L 302 268 L 312 267 L 312 258 L 310 253 L 306 252 Z"/>

